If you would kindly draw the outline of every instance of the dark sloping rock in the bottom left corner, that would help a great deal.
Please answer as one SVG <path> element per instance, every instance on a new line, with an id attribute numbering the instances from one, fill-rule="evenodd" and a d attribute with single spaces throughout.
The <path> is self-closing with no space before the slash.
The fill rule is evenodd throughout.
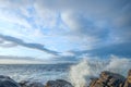
<path id="1" fill-rule="evenodd" d="M 21 87 L 21 86 L 9 76 L 0 75 L 0 87 Z"/>

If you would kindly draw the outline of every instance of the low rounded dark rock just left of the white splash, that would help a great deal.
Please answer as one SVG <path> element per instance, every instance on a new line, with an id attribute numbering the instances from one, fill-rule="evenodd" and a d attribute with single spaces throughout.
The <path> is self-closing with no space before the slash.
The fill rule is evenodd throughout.
<path id="1" fill-rule="evenodd" d="M 48 80 L 45 87 L 73 87 L 71 83 L 63 80 L 63 79 L 57 79 L 57 80 Z"/>

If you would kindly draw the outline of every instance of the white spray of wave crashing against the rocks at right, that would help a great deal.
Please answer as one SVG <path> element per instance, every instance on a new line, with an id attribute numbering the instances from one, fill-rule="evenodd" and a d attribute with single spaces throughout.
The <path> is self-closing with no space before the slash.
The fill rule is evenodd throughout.
<path id="1" fill-rule="evenodd" d="M 131 69 L 131 59 L 111 55 L 109 59 L 84 59 L 72 65 L 69 78 L 74 87 L 86 87 L 92 77 L 97 77 L 103 71 L 119 73 L 123 76 Z"/>

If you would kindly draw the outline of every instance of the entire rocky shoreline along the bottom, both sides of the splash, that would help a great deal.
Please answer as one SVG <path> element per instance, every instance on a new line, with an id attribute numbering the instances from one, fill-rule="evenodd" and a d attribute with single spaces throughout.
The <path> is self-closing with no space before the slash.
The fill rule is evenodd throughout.
<path id="1" fill-rule="evenodd" d="M 0 75 L 0 87 L 74 87 L 64 79 L 48 80 L 46 85 L 38 82 L 22 80 L 16 83 L 9 76 Z M 84 87 L 131 87 L 131 70 L 128 76 L 104 71 L 98 78 L 92 78 L 90 86 Z"/>

